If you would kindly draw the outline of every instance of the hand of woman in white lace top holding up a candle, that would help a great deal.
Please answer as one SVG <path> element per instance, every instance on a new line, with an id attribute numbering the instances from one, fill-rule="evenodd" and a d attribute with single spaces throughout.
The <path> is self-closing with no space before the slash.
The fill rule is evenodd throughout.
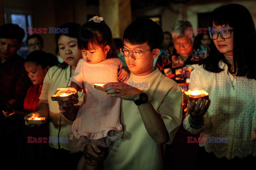
<path id="1" fill-rule="evenodd" d="M 207 102 L 206 102 L 207 101 Z M 211 104 L 211 100 L 199 98 L 198 100 L 188 101 L 188 114 L 190 121 L 193 124 L 200 124 L 203 122 L 203 117 Z"/>

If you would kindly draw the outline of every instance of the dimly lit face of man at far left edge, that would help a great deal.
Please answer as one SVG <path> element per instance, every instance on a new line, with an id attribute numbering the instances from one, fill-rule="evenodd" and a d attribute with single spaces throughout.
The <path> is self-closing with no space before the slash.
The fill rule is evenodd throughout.
<path id="1" fill-rule="evenodd" d="M 13 57 L 22 45 L 23 43 L 19 43 L 18 39 L 0 38 L 0 57 Z"/>

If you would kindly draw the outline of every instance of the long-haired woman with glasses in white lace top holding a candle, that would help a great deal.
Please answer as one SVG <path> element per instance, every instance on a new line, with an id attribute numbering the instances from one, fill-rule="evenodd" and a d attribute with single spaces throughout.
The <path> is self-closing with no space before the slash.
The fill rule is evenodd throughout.
<path id="1" fill-rule="evenodd" d="M 215 47 L 191 73 L 189 86 L 205 90 L 210 100 L 190 100 L 183 126 L 201 133 L 197 168 L 246 167 L 256 160 L 254 22 L 244 6 L 229 4 L 213 11 L 211 24 Z"/>

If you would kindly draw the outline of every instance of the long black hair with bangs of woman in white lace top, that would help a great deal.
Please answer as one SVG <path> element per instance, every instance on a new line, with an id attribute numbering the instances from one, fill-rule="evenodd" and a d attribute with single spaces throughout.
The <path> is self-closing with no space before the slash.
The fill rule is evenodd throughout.
<path id="1" fill-rule="evenodd" d="M 217 48 L 213 45 L 209 57 L 204 60 L 204 69 L 218 73 L 223 71 L 218 66 L 220 60 L 228 65 L 230 73 L 237 76 L 246 76 L 249 79 L 256 79 L 256 32 L 250 12 L 243 5 L 229 4 L 215 9 L 211 17 L 211 27 L 213 22 L 216 25 L 229 25 L 233 28 L 234 36 L 234 72 L 230 70 L 230 64 Z M 238 69 L 237 69 L 238 68 Z"/>

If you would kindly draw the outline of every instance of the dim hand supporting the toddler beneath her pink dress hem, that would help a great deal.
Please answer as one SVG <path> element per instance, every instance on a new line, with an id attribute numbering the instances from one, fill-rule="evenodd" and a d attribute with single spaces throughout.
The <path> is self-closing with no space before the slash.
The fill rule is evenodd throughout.
<path id="1" fill-rule="evenodd" d="M 88 143 L 84 147 L 83 155 L 86 163 L 91 166 L 99 165 L 105 160 L 105 150 L 100 150 L 94 143 Z"/>

